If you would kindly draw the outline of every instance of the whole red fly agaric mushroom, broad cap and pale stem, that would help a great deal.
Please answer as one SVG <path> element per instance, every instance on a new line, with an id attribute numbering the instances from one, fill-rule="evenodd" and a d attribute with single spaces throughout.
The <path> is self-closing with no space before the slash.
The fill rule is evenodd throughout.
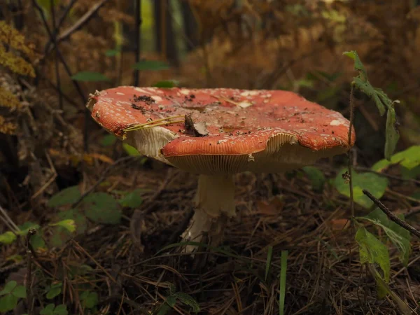
<path id="1" fill-rule="evenodd" d="M 121 86 L 90 95 L 92 118 L 139 153 L 199 174 L 183 239 L 218 244 L 239 172 L 276 173 L 345 153 L 349 120 L 282 90 Z M 192 248 L 189 248 L 191 251 Z"/>

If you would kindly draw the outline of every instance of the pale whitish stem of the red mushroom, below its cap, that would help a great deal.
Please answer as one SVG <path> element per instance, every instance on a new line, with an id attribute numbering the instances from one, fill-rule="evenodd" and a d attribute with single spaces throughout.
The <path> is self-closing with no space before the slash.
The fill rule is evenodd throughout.
<path id="1" fill-rule="evenodd" d="M 235 183 L 232 175 L 200 175 L 195 195 L 195 214 L 183 232 L 184 241 L 201 241 L 207 234 L 217 246 L 223 237 L 228 218 L 235 216 Z M 192 252 L 197 246 L 187 246 Z"/>

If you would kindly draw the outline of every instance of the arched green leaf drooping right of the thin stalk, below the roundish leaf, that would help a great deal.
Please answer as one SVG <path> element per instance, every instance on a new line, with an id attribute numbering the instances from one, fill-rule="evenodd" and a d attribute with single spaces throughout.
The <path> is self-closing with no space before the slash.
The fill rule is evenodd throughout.
<path id="1" fill-rule="evenodd" d="M 400 215 L 399 218 L 404 220 L 403 215 Z M 407 266 L 409 253 L 411 251 L 411 246 L 409 244 L 411 235 L 405 228 L 402 228 L 397 223 L 389 220 L 388 216 L 379 208 L 374 209 L 374 211 L 370 212 L 367 216 L 358 217 L 358 219 L 370 221 L 374 225 L 381 227 L 395 247 L 398 248 L 398 251 L 400 251 L 401 262 Z"/>

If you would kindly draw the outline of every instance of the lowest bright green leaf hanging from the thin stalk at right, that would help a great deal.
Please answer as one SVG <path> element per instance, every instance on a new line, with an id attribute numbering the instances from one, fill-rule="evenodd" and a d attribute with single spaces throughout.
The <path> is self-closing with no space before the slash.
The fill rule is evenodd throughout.
<path id="1" fill-rule="evenodd" d="M 377 263 L 384 272 L 385 281 L 388 282 L 391 270 L 388 248 L 363 226 L 356 232 L 356 241 L 359 245 L 360 263 Z"/>

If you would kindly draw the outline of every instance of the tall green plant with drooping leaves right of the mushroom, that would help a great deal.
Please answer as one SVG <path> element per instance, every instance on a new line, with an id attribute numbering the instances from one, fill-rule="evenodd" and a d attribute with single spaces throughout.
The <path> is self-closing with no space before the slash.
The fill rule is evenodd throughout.
<path id="1" fill-rule="evenodd" d="M 356 51 L 344 52 L 344 55 L 351 57 L 354 60 L 354 67 L 359 73 L 357 77 L 353 78 L 352 86 L 364 92 L 368 97 L 371 97 L 374 100 L 381 116 L 383 116 L 385 112 L 387 113 L 386 143 L 384 149 L 385 160 L 379 161 L 372 167 L 372 169 L 374 171 L 379 171 L 388 165 L 395 163 L 400 163 L 401 165 L 404 163 L 405 167 L 408 166 L 410 168 L 418 167 L 419 158 L 417 158 L 418 155 L 416 155 L 418 148 L 412 147 L 407 149 L 407 151 L 393 155 L 399 138 L 398 130 L 396 128 L 394 109 L 394 104 L 398 103 L 398 101 L 392 101 L 383 90 L 372 87 L 367 79 L 365 66 L 360 61 Z M 353 104 L 350 104 L 350 106 L 353 107 Z M 344 171 L 342 171 L 342 173 L 343 172 Z M 360 204 L 362 207 L 372 207 L 372 200 L 363 195 L 363 190 L 370 190 L 370 193 L 374 195 L 374 197 L 379 198 L 384 194 L 386 187 L 388 186 L 388 180 L 379 176 L 379 174 L 374 174 L 372 172 L 362 174 L 353 172 L 350 164 L 348 172 L 349 173 L 345 173 L 346 176 L 337 176 L 335 179 L 335 186 L 337 190 L 350 197 L 351 202 L 354 200 L 354 202 Z M 391 295 L 392 299 L 396 304 L 398 304 L 398 307 L 403 314 L 411 314 L 407 305 L 400 299 L 400 297 L 398 297 L 397 294 L 393 293 L 388 286 L 391 272 L 391 261 L 389 258 L 388 248 L 383 242 L 386 241 L 386 237 L 391 240 L 400 252 L 400 260 L 402 264 L 407 265 L 410 253 L 409 241 L 411 235 L 400 225 L 390 221 L 386 214 L 384 214 L 379 208 L 374 209 L 370 212 L 370 214 L 367 214 L 367 216 L 353 219 L 353 223 L 357 228 L 355 238 L 359 246 L 360 263 L 367 266 L 367 269 L 370 271 L 372 276 L 374 276 L 377 283 L 378 296 L 381 298 L 385 297 L 387 294 Z M 403 216 L 400 216 L 400 219 L 404 220 Z M 362 224 L 363 221 L 368 221 L 374 226 L 384 230 L 386 237 L 381 237 L 381 239 L 379 239 L 373 235 Z M 376 266 L 379 266 L 381 272 L 377 270 Z"/>

